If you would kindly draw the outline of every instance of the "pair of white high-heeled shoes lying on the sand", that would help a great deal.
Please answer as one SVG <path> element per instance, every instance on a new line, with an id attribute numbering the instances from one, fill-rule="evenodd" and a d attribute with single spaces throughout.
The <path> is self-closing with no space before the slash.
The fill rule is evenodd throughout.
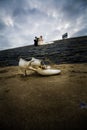
<path id="1" fill-rule="evenodd" d="M 26 61 L 23 58 L 20 58 L 19 67 L 24 75 L 27 75 L 26 71 L 29 69 L 37 72 L 40 75 L 54 75 L 61 72 L 61 70 L 52 69 L 51 66 L 42 64 L 42 60 L 36 59 L 34 57 L 30 61 Z"/>

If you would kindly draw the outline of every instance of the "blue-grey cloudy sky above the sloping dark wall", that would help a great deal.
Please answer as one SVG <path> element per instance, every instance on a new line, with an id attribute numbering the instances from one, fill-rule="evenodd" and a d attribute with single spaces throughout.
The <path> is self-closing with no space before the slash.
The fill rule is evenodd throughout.
<path id="1" fill-rule="evenodd" d="M 0 0 L 0 50 L 87 35 L 87 0 Z"/>

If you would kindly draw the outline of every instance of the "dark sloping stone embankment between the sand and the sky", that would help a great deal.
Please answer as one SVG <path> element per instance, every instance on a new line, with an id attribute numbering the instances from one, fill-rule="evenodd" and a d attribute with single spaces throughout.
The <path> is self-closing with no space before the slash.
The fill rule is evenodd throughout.
<path id="1" fill-rule="evenodd" d="M 43 46 L 24 46 L 0 51 L 0 66 L 18 65 L 19 57 L 49 59 L 52 63 L 87 63 L 87 36 L 54 41 Z"/>

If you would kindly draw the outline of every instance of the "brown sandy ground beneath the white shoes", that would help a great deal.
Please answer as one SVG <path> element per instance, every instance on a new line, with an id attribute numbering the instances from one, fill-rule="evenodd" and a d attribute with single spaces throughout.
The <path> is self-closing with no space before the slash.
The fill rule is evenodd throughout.
<path id="1" fill-rule="evenodd" d="M 87 128 L 87 64 L 54 67 L 60 75 L 0 68 L 0 130 Z"/>

